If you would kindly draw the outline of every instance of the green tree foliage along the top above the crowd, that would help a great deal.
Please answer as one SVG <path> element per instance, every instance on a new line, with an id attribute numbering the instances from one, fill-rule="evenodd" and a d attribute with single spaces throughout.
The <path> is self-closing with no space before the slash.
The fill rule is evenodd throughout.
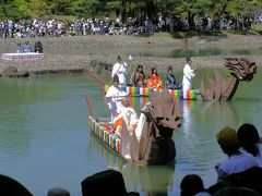
<path id="1" fill-rule="evenodd" d="M 109 15 L 143 16 L 154 20 L 159 14 L 188 17 L 215 14 L 259 13 L 261 0 L 0 0 L 0 19 L 25 19 L 50 14 L 78 17 Z"/>

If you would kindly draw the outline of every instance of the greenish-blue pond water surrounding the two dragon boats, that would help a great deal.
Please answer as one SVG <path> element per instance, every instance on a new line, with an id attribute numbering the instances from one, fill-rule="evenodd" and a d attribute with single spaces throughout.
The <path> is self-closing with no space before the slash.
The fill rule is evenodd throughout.
<path id="1" fill-rule="evenodd" d="M 178 78 L 181 74 L 178 73 Z M 229 102 L 181 101 L 182 125 L 174 133 L 176 162 L 138 167 L 126 163 L 90 132 L 86 95 L 97 117 L 108 117 L 102 86 L 84 74 L 0 78 L 0 173 L 45 196 L 61 186 L 81 195 L 81 181 L 96 172 L 122 172 L 128 192 L 179 195 L 186 174 L 216 182 L 214 166 L 226 159 L 215 134 L 225 125 L 253 123 L 262 134 L 262 75 L 241 83 Z M 196 82 L 198 84 L 198 82 Z M 146 98 L 133 98 L 136 108 Z"/>

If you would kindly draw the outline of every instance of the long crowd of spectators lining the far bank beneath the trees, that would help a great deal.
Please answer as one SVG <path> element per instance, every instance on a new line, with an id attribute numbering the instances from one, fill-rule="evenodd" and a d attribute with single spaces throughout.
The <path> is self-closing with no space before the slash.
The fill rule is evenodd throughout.
<path id="1" fill-rule="evenodd" d="M 258 16 L 210 16 L 195 17 L 196 30 L 250 29 L 252 23 L 262 24 L 262 14 Z M 191 26 L 192 27 L 192 26 Z M 188 30 L 187 17 L 170 19 L 158 16 L 153 22 L 146 19 L 129 17 L 126 23 L 120 19 L 81 19 L 81 20 L 21 20 L 0 21 L 0 38 L 47 37 L 47 36 L 87 36 L 87 35 L 140 35 L 143 33 Z"/>

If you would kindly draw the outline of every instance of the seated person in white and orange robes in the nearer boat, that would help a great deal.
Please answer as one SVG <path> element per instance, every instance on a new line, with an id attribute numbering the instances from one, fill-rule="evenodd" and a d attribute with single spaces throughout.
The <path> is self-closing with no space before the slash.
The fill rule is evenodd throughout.
<path id="1" fill-rule="evenodd" d="M 118 117 L 115 119 L 114 133 L 121 137 L 122 126 L 126 123 L 129 134 L 132 136 L 138 126 L 138 114 L 133 107 L 130 105 L 130 98 L 128 96 L 122 97 L 121 103 L 123 108 L 121 109 Z"/>

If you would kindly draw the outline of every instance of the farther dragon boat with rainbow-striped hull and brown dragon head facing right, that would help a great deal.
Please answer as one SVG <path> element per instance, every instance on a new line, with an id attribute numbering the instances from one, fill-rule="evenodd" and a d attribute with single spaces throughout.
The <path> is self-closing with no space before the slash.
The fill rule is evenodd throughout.
<path id="1" fill-rule="evenodd" d="M 183 91 L 182 89 L 168 89 L 170 95 L 177 99 L 186 100 L 231 100 L 239 82 L 250 82 L 257 73 L 255 62 L 246 58 L 224 58 L 224 65 L 229 71 L 227 78 L 224 78 L 216 70 L 213 72 L 213 78 L 202 77 L 201 85 L 196 89 Z M 108 90 L 109 85 L 104 86 L 104 93 Z M 143 88 L 134 86 L 120 87 L 131 96 L 151 96 L 154 88 Z"/>

